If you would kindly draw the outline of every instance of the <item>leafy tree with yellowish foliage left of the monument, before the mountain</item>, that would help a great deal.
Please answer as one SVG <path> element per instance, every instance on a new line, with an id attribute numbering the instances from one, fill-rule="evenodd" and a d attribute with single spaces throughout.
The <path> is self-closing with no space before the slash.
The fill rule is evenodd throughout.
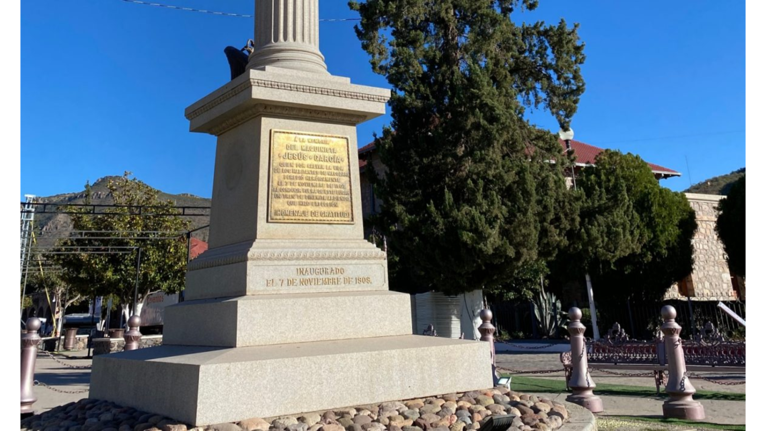
<path id="1" fill-rule="evenodd" d="M 84 212 L 72 215 L 73 230 L 81 232 L 77 235 L 80 238 L 62 240 L 59 246 L 61 250 L 82 250 L 83 253 L 56 255 L 64 267 L 61 278 L 65 282 L 86 297 L 114 295 L 122 305 L 126 322 L 130 315 L 141 313 L 149 293 L 174 293 L 183 289 L 186 241 L 181 233 L 188 230 L 189 225 L 187 220 L 175 215 L 178 211 L 172 201 L 160 201 L 157 190 L 129 175 L 126 172 L 107 185 L 119 207 L 108 208 L 104 214 L 95 216 Z M 90 191 L 88 184 L 86 191 Z M 88 198 L 86 201 L 89 202 Z M 139 207 L 145 207 L 143 214 Z M 146 211 L 146 207 L 151 208 Z M 70 211 L 77 211 L 77 207 Z M 142 239 L 146 237 L 151 239 Z M 173 238 L 165 239 L 167 237 Z M 133 310 L 139 248 L 138 303 Z M 87 251 L 101 253 L 85 253 Z"/>

